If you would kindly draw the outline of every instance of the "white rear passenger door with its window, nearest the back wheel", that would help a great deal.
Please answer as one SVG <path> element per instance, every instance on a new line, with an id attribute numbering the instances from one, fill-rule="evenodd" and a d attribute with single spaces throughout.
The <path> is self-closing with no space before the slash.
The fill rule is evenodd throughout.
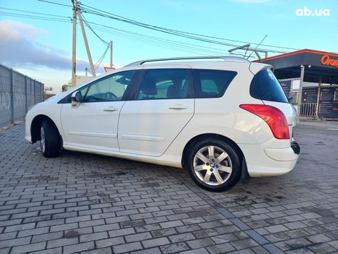
<path id="1" fill-rule="evenodd" d="M 195 108 L 190 66 L 145 66 L 135 98 L 119 119 L 123 153 L 160 156 L 192 118 Z"/>

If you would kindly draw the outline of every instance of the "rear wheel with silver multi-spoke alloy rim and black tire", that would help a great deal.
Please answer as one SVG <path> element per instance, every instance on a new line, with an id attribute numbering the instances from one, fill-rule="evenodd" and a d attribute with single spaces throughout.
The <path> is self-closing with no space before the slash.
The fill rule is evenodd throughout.
<path id="1" fill-rule="evenodd" d="M 241 177 L 241 155 L 226 141 L 205 139 L 190 148 L 187 168 L 192 180 L 201 188 L 228 190 Z"/>

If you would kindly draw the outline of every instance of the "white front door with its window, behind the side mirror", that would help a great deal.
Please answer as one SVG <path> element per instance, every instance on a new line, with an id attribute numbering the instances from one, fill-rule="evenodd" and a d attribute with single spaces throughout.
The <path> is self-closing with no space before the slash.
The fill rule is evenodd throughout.
<path id="1" fill-rule="evenodd" d="M 61 122 L 66 146 L 119 151 L 119 113 L 126 102 L 133 77 L 135 70 L 103 77 L 79 88 L 79 107 L 63 104 Z"/>

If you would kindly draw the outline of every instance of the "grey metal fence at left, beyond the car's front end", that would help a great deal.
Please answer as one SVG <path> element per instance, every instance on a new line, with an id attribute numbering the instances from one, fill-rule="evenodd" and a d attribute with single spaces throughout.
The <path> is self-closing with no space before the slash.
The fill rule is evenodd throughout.
<path id="1" fill-rule="evenodd" d="M 43 101 L 44 85 L 0 64 L 0 126 L 24 117 L 30 106 Z"/>

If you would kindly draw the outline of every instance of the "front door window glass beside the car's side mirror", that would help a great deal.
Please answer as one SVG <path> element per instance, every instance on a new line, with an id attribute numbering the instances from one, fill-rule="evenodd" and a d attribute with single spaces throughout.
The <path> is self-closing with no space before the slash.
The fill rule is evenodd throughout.
<path id="1" fill-rule="evenodd" d="M 135 70 L 112 74 L 90 84 L 83 96 L 83 102 L 121 101 Z"/>

